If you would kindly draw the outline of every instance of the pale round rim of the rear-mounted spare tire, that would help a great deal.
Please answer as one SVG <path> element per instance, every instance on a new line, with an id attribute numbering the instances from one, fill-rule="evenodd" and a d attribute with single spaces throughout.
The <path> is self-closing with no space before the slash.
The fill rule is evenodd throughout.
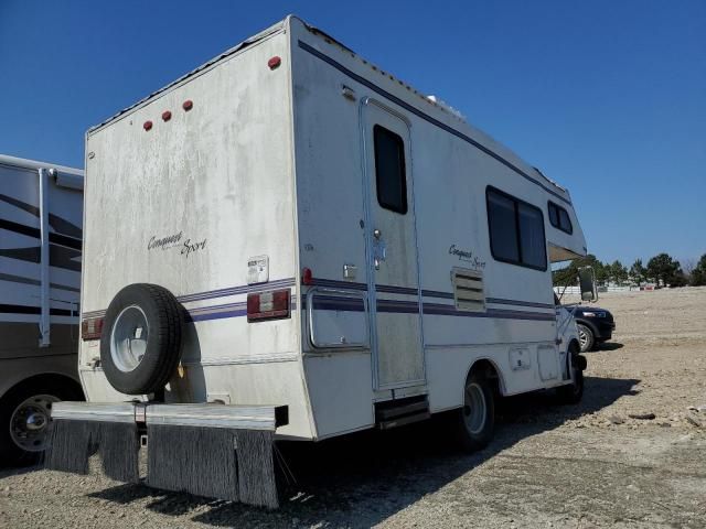
<path id="1" fill-rule="evenodd" d="M 122 373 L 130 373 L 145 358 L 149 325 L 145 311 L 138 305 L 122 309 L 110 331 L 110 356 Z"/>

